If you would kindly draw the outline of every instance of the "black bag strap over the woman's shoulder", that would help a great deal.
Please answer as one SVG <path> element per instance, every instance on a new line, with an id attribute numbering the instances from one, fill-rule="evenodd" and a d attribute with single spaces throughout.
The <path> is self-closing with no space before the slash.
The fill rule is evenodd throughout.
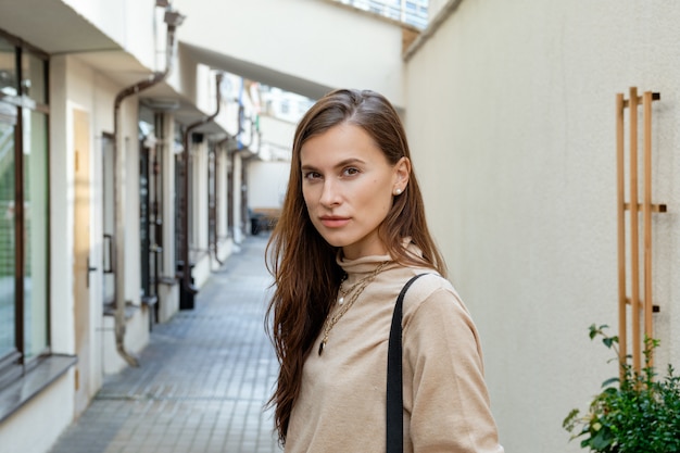
<path id="1" fill-rule="evenodd" d="M 412 277 L 396 298 L 387 352 L 387 453 L 404 451 L 404 388 L 402 382 L 402 305 L 413 282 L 425 274 Z"/>

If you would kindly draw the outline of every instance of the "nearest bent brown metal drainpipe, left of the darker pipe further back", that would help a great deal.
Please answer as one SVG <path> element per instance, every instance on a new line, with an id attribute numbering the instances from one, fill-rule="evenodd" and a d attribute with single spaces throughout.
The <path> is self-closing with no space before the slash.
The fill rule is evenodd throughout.
<path id="1" fill-rule="evenodd" d="M 114 262 L 114 301 L 115 301 L 115 340 L 116 350 L 118 354 L 130 366 L 139 366 L 139 361 L 125 350 L 125 199 L 123 197 L 123 188 L 125 185 L 125 154 L 124 151 L 118 151 L 118 112 L 121 110 L 121 103 L 129 96 L 137 95 L 165 79 L 169 74 L 174 47 L 175 47 L 175 30 L 181 22 L 184 16 L 177 12 L 172 11 L 169 8 L 165 12 L 165 23 L 167 24 L 167 43 L 166 43 L 166 58 L 165 58 L 165 71 L 154 73 L 150 78 L 139 81 L 123 89 L 115 98 L 113 108 L 113 202 L 114 218 L 115 218 L 115 235 L 113 247 L 113 262 Z"/>

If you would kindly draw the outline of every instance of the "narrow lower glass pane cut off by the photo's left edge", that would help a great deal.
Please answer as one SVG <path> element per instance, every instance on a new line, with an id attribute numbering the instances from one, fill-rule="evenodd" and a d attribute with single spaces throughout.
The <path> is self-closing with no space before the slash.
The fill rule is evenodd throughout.
<path id="1" fill-rule="evenodd" d="M 0 102 L 0 108 L 7 104 Z M 7 109 L 13 109 L 7 106 Z M 16 351 L 14 262 L 14 125 L 0 116 L 0 360 Z"/>

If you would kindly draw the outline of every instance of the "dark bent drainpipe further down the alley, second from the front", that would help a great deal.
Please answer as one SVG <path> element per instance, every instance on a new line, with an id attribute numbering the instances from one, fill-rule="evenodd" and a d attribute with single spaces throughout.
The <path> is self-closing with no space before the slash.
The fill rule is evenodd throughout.
<path id="1" fill-rule="evenodd" d="M 186 298 L 193 297 L 197 292 L 199 292 L 198 288 L 191 284 L 191 264 L 189 263 L 189 137 L 191 136 L 191 131 L 197 127 L 203 126 L 204 124 L 210 123 L 215 119 L 215 117 L 219 114 L 219 106 L 222 104 L 222 79 L 224 77 L 223 73 L 217 73 L 215 77 L 216 83 L 216 100 L 217 100 L 217 109 L 215 113 L 210 116 L 204 117 L 201 121 L 198 121 L 193 124 L 190 124 L 185 130 L 184 135 L 184 150 L 181 152 L 181 159 L 184 161 L 182 172 L 184 178 L 181 181 L 181 191 L 182 199 L 179 212 L 179 217 L 181 221 L 181 261 L 184 262 L 184 266 L 181 268 L 181 288 L 180 291 L 184 291 Z"/>

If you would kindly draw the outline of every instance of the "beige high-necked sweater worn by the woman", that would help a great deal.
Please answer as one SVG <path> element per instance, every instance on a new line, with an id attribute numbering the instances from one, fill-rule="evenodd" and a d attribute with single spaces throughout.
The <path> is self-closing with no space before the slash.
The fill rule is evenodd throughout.
<path id="1" fill-rule="evenodd" d="M 389 256 L 339 261 L 349 288 Z M 403 285 L 428 269 L 390 263 L 312 348 L 288 429 L 287 453 L 386 451 L 387 349 Z M 323 336 L 323 332 L 322 332 Z M 477 330 L 455 290 L 419 278 L 403 307 L 404 452 L 503 453 L 489 407 Z"/>

